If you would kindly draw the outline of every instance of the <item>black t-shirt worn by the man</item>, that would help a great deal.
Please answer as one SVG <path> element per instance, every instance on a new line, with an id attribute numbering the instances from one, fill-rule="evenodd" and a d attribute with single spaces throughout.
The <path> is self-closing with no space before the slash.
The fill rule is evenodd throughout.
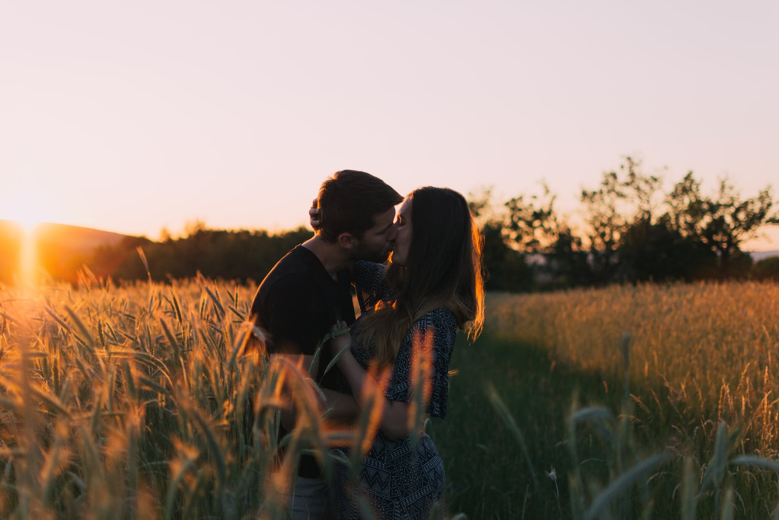
<path id="1" fill-rule="evenodd" d="M 259 284 L 252 315 L 268 332 L 266 349 L 273 353 L 299 353 L 312 356 L 333 325 L 354 323 L 349 273 L 344 270 L 333 279 L 312 251 L 298 245 L 284 255 Z M 332 356 L 323 350 L 316 381 L 322 388 L 337 389 L 336 366 L 323 377 Z M 284 431 L 282 435 L 284 435 Z M 301 458 L 300 476 L 315 478 L 319 467 L 310 455 Z"/>

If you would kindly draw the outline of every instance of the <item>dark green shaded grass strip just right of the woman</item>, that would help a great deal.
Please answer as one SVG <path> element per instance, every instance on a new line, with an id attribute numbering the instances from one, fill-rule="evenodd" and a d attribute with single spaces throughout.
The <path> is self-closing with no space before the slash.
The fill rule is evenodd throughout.
<path id="1" fill-rule="evenodd" d="M 567 474 L 573 469 L 566 444 L 566 416 L 573 395 L 582 402 L 619 402 L 605 392 L 597 374 L 572 371 L 553 363 L 544 350 L 482 338 L 456 345 L 449 380 L 446 421 L 433 423 L 432 437 L 446 468 L 447 509 L 469 518 L 568 518 Z M 516 438 L 490 403 L 487 385 L 497 389 L 513 414 L 537 474 Z M 599 451 L 598 439 L 586 434 L 585 453 Z M 601 447 L 602 448 L 602 447 Z M 597 454 L 595 454 L 597 455 Z M 605 473 L 588 458 L 587 466 Z M 561 492 L 546 473 L 555 469 Z"/>

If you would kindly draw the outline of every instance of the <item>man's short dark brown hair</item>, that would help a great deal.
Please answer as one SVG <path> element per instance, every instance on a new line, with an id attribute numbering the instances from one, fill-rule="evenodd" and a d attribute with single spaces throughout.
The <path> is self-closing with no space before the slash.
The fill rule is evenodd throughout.
<path id="1" fill-rule="evenodd" d="M 319 188 L 317 231 L 326 241 L 348 233 L 361 238 L 375 225 L 373 217 L 399 204 L 403 197 L 389 184 L 358 170 L 340 170 Z"/>

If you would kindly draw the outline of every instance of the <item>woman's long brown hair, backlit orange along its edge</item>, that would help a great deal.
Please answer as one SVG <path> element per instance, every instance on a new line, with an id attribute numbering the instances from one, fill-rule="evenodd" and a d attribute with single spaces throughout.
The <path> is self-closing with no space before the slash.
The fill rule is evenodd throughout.
<path id="1" fill-rule="evenodd" d="M 380 366 L 394 363 L 414 321 L 437 307 L 452 311 L 471 339 L 484 324 L 483 238 L 463 195 L 449 188 L 419 188 L 411 199 L 411 247 L 406 266 L 390 264 L 393 299 L 376 304 L 358 335 L 375 347 Z"/>

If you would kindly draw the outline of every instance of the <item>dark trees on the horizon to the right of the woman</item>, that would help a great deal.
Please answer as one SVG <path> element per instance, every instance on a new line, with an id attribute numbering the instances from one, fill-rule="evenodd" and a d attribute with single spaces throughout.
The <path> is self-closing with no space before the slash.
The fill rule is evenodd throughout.
<path id="1" fill-rule="evenodd" d="M 692 171 L 668 191 L 626 157 L 600 184 L 580 192 L 580 220 L 555 206 L 556 195 L 520 195 L 501 206 L 485 190 L 471 209 L 485 235 L 492 290 L 552 290 L 608 283 L 777 279 L 779 258 L 753 264 L 742 251 L 764 227 L 779 224 L 770 186 L 742 198 L 728 179 L 713 194 Z"/>

